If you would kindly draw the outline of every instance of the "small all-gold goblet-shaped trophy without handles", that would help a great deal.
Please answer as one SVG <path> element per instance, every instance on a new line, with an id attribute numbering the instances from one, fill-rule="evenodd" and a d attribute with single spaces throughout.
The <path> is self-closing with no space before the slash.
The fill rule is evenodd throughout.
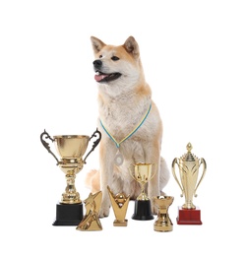
<path id="1" fill-rule="evenodd" d="M 157 220 L 154 222 L 154 231 L 172 231 L 172 222 L 168 215 L 168 208 L 172 204 L 174 197 L 157 196 L 154 197 L 154 205 L 158 208 Z"/>

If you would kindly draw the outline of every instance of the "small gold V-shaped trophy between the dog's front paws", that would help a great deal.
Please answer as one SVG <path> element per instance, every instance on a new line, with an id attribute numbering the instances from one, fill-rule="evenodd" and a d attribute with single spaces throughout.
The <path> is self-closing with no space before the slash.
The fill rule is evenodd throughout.
<path id="1" fill-rule="evenodd" d="M 109 186 L 107 186 L 109 198 L 112 204 L 112 208 L 114 211 L 114 215 L 116 220 L 113 222 L 115 226 L 127 226 L 126 212 L 130 200 L 130 195 L 126 196 L 125 193 L 118 193 L 114 195 L 110 190 Z"/>

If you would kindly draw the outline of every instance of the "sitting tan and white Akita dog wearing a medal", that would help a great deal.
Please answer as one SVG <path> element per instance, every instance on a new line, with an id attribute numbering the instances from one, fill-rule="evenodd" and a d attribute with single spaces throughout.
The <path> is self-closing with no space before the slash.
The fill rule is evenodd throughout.
<path id="1" fill-rule="evenodd" d="M 140 184 L 130 173 L 138 162 L 154 163 L 154 177 L 147 194 L 163 195 L 169 170 L 160 157 L 162 121 L 145 80 L 140 49 L 133 36 L 123 45 L 106 44 L 92 36 L 94 80 L 98 87 L 99 170 L 88 173 L 87 185 L 93 193 L 102 191 L 99 217 L 107 217 L 110 200 L 107 186 L 114 194 L 125 193 L 135 200 Z M 152 203 L 152 211 L 157 214 Z"/>

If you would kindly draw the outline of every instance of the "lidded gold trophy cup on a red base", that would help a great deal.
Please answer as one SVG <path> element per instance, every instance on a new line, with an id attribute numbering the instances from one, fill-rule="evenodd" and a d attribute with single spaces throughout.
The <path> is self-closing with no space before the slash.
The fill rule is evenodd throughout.
<path id="1" fill-rule="evenodd" d="M 172 174 L 182 191 L 181 197 L 185 196 L 185 204 L 178 208 L 177 224 L 202 224 L 201 210 L 193 204 L 193 196 L 197 197 L 196 191 L 204 178 L 207 164 L 204 159 L 199 160 L 191 153 L 192 145 L 190 143 L 188 143 L 186 149 L 188 152 L 185 155 L 172 161 Z M 181 183 L 176 176 L 175 163 L 179 168 Z M 203 173 L 199 182 L 197 182 L 199 168 L 202 163 Z"/>

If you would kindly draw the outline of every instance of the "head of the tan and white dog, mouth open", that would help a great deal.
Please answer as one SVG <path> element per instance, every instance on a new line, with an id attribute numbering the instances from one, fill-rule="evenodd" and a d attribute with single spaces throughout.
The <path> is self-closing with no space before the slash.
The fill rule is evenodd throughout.
<path id="1" fill-rule="evenodd" d="M 144 74 L 139 45 L 133 36 L 120 46 L 105 44 L 94 36 L 91 39 L 95 57 L 94 79 L 101 87 L 107 88 L 107 93 L 110 91 L 115 95 L 138 84 Z"/>

